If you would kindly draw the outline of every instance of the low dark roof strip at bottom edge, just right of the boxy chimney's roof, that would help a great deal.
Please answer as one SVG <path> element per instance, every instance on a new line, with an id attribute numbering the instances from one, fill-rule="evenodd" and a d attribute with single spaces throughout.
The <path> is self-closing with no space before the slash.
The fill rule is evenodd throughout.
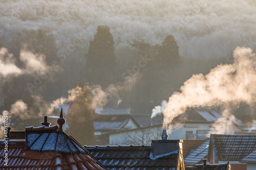
<path id="1" fill-rule="evenodd" d="M 185 165 L 185 170 L 230 170 L 230 163 L 219 163 L 219 164 L 207 164 L 206 168 L 204 168 L 204 165 L 198 164 L 198 165 Z"/>

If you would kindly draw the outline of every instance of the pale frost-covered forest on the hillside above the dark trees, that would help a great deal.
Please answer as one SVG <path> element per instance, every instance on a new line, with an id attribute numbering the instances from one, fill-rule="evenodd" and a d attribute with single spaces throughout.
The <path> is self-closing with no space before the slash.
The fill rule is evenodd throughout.
<path id="1" fill-rule="evenodd" d="M 226 57 L 237 46 L 255 46 L 255 6 L 250 0 L 1 1 L 0 37 L 41 29 L 60 49 L 76 33 L 89 42 L 97 26 L 106 25 L 117 46 L 133 39 L 159 44 L 172 34 L 183 57 Z"/>

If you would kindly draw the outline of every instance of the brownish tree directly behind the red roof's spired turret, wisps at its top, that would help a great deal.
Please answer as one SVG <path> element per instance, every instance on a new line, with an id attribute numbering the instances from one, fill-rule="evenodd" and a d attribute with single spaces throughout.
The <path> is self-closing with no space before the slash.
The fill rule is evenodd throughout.
<path id="1" fill-rule="evenodd" d="M 94 145 L 93 120 L 95 110 L 92 107 L 92 97 L 87 85 L 72 89 L 75 95 L 67 114 L 68 133 L 79 143 Z"/>

